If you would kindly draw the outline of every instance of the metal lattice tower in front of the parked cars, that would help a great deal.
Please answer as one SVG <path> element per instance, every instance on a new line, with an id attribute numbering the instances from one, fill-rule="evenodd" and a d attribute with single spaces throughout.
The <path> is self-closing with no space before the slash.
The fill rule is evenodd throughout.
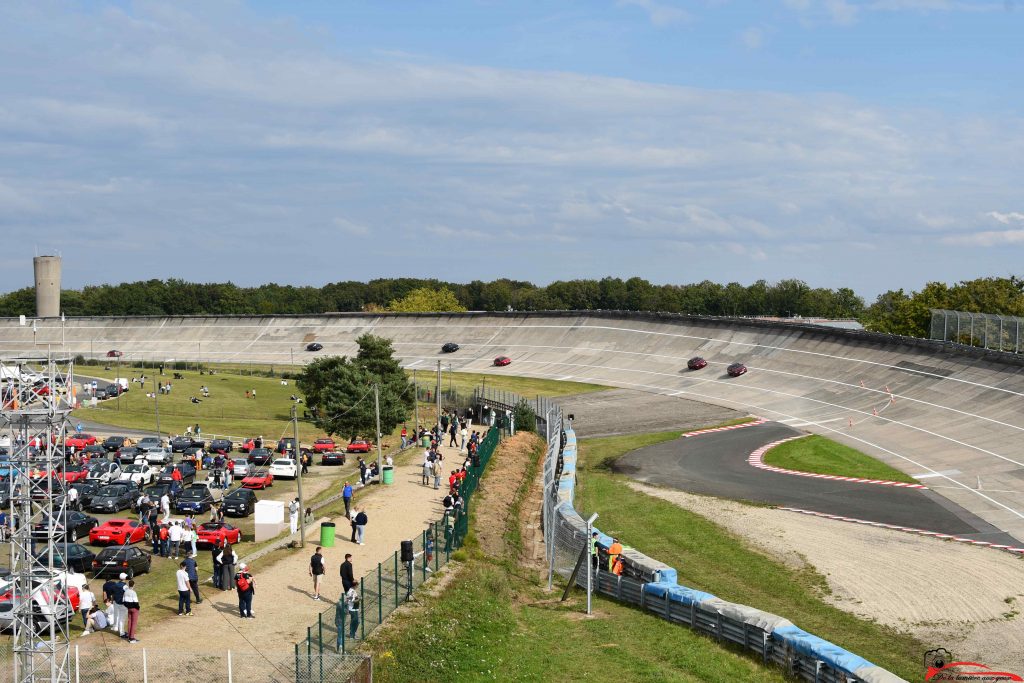
<path id="1" fill-rule="evenodd" d="M 0 358 L 0 451 L 8 452 L 14 683 L 70 681 L 65 462 L 74 366 L 67 358 Z M 56 476 L 51 474 L 57 473 Z"/>

